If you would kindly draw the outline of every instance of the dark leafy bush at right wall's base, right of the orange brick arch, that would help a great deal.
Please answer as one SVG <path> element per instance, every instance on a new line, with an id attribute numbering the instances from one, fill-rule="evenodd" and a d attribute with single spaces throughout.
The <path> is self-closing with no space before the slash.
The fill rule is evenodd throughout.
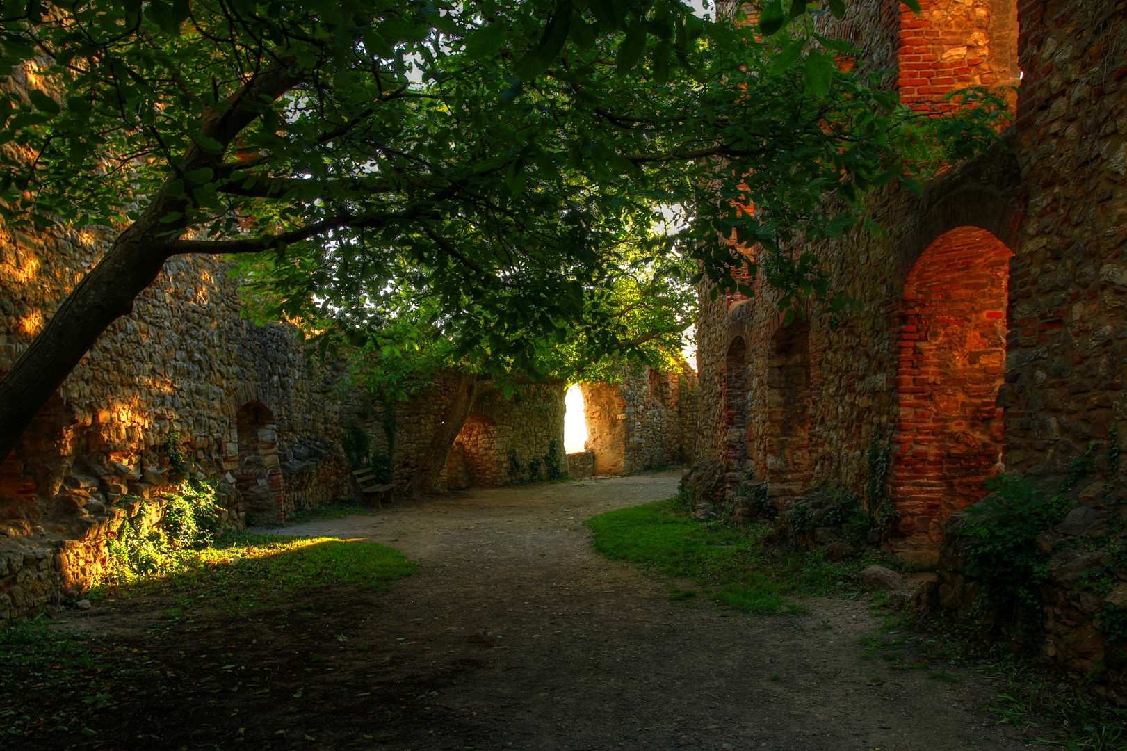
<path id="1" fill-rule="evenodd" d="M 1050 496 L 1032 480 L 996 475 L 986 479 L 992 493 L 968 507 L 964 533 L 974 540 L 969 573 L 982 577 L 984 595 L 975 601 L 976 612 L 980 617 L 991 609 L 1012 621 L 1027 646 L 1044 639 L 1040 585 L 1048 576 L 1048 557 L 1035 541 L 1064 519 L 1071 503 L 1063 491 L 1074 483 L 1066 479 L 1062 493 Z"/>

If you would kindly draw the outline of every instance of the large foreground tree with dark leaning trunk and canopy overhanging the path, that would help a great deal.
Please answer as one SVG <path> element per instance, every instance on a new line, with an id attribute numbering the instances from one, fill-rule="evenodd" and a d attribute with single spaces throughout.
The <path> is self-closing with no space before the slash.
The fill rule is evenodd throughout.
<path id="1" fill-rule="evenodd" d="M 810 12 L 772 0 L 757 36 L 676 0 L 6 3 L 2 64 L 44 83 L 0 100 L 0 219 L 121 231 L 0 380 L 0 457 L 176 254 L 270 258 L 293 315 L 424 291 L 460 353 L 526 372 L 538 342 L 609 323 L 588 291 L 628 247 L 668 253 L 669 205 L 720 284 L 746 259 L 716 232 L 840 304 L 780 248 L 971 154 L 996 115 L 899 106 Z"/>

